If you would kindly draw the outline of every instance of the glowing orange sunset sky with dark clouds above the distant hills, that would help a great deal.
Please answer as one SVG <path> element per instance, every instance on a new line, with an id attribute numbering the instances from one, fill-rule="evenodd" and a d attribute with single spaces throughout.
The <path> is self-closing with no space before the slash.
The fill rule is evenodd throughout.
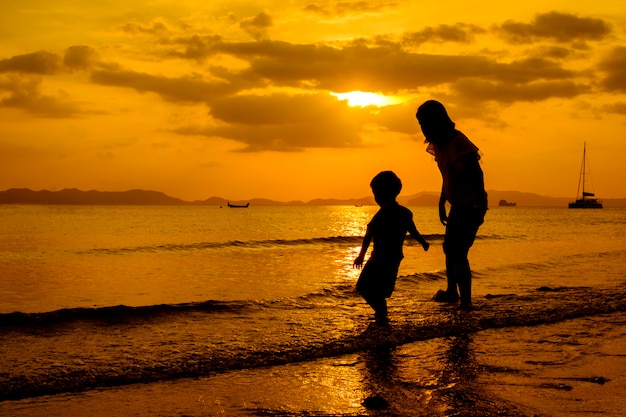
<path id="1" fill-rule="evenodd" d="M 596 194 L 626 197 L 623 0 L 5 3 L 0 190 L 308 201 L 390 169 L 437 191 L 434 98 L 487 189 L 573 198 L 586 141 Z"/>

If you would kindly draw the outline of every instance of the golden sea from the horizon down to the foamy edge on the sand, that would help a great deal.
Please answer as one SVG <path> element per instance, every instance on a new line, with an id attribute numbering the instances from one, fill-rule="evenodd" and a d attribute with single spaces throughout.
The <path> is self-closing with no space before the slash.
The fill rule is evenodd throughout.
<path id="1" fill-rule="evenodd" d="M 383 343 L 353 290 L 352 262 L 376 210 L 0 206 L 0 399 Z M 432 246 L 405 245 L 384 343 L 624 309 L 624 208 L 490 209 L 470 253 L 475 321 L 430 301 L 445 286 L 443 226 L 436 208 L 412 210 Z"/>

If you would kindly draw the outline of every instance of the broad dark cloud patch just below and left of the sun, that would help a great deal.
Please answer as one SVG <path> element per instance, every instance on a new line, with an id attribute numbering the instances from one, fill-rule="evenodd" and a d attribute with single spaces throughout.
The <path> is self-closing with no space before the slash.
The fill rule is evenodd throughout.
<path id="1" fill-rule="evenodd" d="M 360 132 L 369 110 L 348 107 L 330 94 L 224 97 L 211 106 L 215 126 L 185 127 L 181 134 L 221 137 L 245 152 L 363 146 Z"/>

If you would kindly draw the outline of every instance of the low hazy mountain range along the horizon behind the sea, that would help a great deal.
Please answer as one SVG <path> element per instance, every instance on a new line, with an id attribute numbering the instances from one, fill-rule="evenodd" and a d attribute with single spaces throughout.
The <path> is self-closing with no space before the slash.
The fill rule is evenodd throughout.
<path id="1" fill-rule="evenodd" d="M 544 206 L 567 207 L 573 199 L 564 197 L 546 197 L 539 194 L 520 191 L 489 191 L 489 205 L 497 206 L 500 200 L 514 202 L 517 206 Z M 436 206 L 439 201 L 437 192 L 421 192 L 409 196 L 400 196 L 398 201 L 407 206 Z M 314 199 L 302 201 L 274 201 L 263 198 L 253 198 L 246 201 L 227 200 L 221 197 L 211 197 L 206 200 L 185 201 L 170 197 L 159 191 L 129 190 L 129 191 L 81 191 L 75 188 L 61 191 L 33 191 L 28 188 L 11 188 L 0 191 L 0 204 L 58 204 L 58 205 L 207 205 L 226 206 L 232 204 L 250 203 L 250 206 L 346 206 L 346 205 L 375 205 L 372 197 L 359 199 Z M 624 207 L 626 198 L 603 199 L 605 207 Z"/>

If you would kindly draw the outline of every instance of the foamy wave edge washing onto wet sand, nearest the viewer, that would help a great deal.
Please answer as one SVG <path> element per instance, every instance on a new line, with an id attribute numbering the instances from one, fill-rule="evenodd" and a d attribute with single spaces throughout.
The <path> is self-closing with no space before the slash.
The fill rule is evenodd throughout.
<path id="1" fill-rule="evenodd" d="M 555 289 L 553 289 L 555 290 Z M 83 369 L 59 369 L 35 375 L 5 373 L 0 381 L 0 401 L 82 391 L 178 378 L 209 376 L 238 369 L 285 365 L 324 357 L 340 356 L 376 347 L 474 333 L 512 326 L 535 326 L 578 317 L 626 311 L 626 288 L 567 288 L 556 291 L 537 289 L 518 296 L 486 297 L 471 312 L 446 306 L 425 305 L 423 320 L 405 317 L 389 326 L 345 329 L 324 334 L 319 340 L 306 337 L 276 341 L 263 349 L 250 347 L 231 352 L 221 349 L 210 354 L 191 350 L 168 360 L 158 356 L 138 363 L 94 364 Z M 182 348 L 182 346 L 181 346 Z"/>

